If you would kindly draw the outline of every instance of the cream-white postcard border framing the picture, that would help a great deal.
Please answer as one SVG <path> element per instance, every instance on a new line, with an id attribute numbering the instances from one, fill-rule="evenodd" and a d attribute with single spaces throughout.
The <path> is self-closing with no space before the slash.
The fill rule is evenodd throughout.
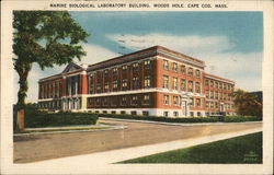
<path id="1" fill-rule="evenodd" d="M 61 2 L 61 1 L 60 1 Z M 66 1 L 68 3 L 69 1 Z M 71 2 L 71 1 L 70 1 Z M 72 1 L 79 3 L 80 1 Z M 82 1 L 89 2 L 89 1 Z M 118 1 L 117 1 L 118 2 Z M 125 2 L 126 1 L 119 1 Z M 130 1 L 133 2 L 133 1 Z M 168 1 L 161 1 L 168 2 Z M 176 1 L 178 2 L 178 1 Z M 205 3 L 204 1 L 184 1 L 184 3 Z M 48 1 L 2 1 L 1 2 L 1 174 L 272 174 L 273 170 L 273 1 L 206 1 L 206 3 L 226 3 L 228 9 L 218 11 L 263 11 L 264 13 L 264 61 L 263 61 L 263 164 L 96 164 L 94 162 L 67 162 L 34 166 L 33 164 L 13 164 L 12 140 L 12 10 L 49 10 Z M 101 3 L 101 1 L 94 1 Z M 139 2 L 140 3 L 140 2 Z M 152 3 L 152 1 L 149 1 Z M 56 9 L 68 10 L 68 9 Z M 94 11 L 94 9 L 73 9 Z M 95 9 L 98 10 L 98 9 Z M 128 11 L 127 9 L 101 9 L 102 11 Z M 132 11 L 151 11 L 155 9 L 130 9 Z M 161 11 L 182 11 L 182 9 L 162 9 Z M 208 11 L 207 9 L 183 9 L 183 11 Z M 210 9 L 209 11 L 217 11 Z M 4 40 L 4 42 L 2 42 Z M 210 168 L 209 168 L 210 167 Z"/>

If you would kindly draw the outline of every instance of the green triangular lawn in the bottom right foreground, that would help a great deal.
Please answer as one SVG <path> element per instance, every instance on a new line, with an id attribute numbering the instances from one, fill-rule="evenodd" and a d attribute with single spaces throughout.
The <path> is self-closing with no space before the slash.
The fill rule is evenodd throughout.
<path id="1" fill-rule="evenodd" d="M 262 163 L 262 132 L 119 163 Z"/>

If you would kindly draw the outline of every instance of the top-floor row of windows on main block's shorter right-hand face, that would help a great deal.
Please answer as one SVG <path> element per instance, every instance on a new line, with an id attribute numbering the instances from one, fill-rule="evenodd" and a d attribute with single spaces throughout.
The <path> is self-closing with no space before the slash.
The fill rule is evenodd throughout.
<path id="1" fill-rule="evenodd" d="M 196 77 L 196 78 L 201 78 L 201 70 L 198 70 L 198 69 L 196 69 L 195 71 L 194 71 L 194 69 L 192 68 L 192 67 L 186 67 L 185 65 L 181 65 L 181 72 L 183 73 L 183 74 L 189 74 L 189 75 L 191 75 L 191 77 Z M 169 60 L 163 60 L 163 69 L 164 70 L 170 70 L 170 62 L 169 62 Z M 174 72 L 178 72 L 179 71 L 179 66 L 178 66 L 178 62 L 172 62 L 172 70 L 174 71 Z M 186 72 L 187 71 L 187 72 Z M 195 72 L 195 74 L 194 74 L 194 72 Z"/>

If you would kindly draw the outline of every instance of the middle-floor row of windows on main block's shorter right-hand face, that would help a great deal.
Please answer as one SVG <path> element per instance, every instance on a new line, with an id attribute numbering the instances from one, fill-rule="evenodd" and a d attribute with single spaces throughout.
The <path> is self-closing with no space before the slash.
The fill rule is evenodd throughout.
<path id="1" fill-rule="evenodd" d="M 194 89 L 195 85 L 195 89 Z M 170 79 L 169 75 L 163 75 L 163 88 L 169 89 L 170 88 Z M 186 89 L 187 88 L 187 89 Z M 179 79 L 173 77 L 172 81 L 172 89 L 173 90 L 179 90 Z M 193 82 L 193 81 L 186 81 L 185 79 L 181 79 L 181 91 L 187 91 L 187 92 L 195 92 L 195 93 L 201 93 L 201 83 L 199 82 Z"/>

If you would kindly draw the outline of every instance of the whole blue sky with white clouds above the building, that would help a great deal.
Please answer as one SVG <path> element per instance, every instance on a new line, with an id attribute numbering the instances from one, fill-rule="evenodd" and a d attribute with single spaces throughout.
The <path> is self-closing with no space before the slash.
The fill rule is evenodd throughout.
<path id="1" fill-rule="evenodd" d="M 89 34 L 81 63 L 95 63 L 160 45 L 205 61 L 208 73 L 246 91 L 262 90 L 262 12 L 70 12 Z M 37 102 L 38 79 L 66 66 L 42 71 L 34 63 L 26 102 Z M 14 103 L 18 75 L 14 72 Z"/>

